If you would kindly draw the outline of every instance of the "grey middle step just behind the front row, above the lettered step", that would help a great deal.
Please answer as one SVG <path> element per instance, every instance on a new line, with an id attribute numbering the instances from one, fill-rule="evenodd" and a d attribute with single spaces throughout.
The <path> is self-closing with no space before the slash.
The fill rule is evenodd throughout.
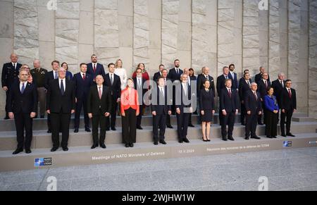
<path id="1" fill-rule="evenodd" d="M 137 130 L 137 142 L 152 142 L 153 132 L 152 127 L 144 127 L 144 130 Z M 317 122 L 308 123 L 292 123 L 292 133 L 310 133 L 316 132 Z M 258 125 L 257 135 L 265 135 L 265 126 Z M 278 129 L 280 135 L 280 129 Z M 233 136 L 244 136 L 245 128 L 243 125 L 236 124 L 233 132 Z M 189 139 L 201 139 L 201 126 L 196 125 L 195 128 L 188 129 Z M 211 138 L 220 138 L 221 129 L 219 125 L 211 126 Z M 166 139 L 168 141 L 175 141 L 178 139 L 176 126 L 174 129 L 166 129 Z M 122 142 L 122 131 L 118 128 L 116 131 L 108 131 L 106 134 L 106 144 L 120 144 Z M 0 151 L 13 150 L 16 148 L 16 134 L 15 131 L 0 132 Z M 92 133 L 80 130 L 78 133 L 74 133 L 70 130 L 70 138 L 68 141 L 71 147 L 82 147 L 92 145 Z M 32 149 L 50 149 L 51 148 L 51 134 L 46 133 L 46 130 L 35 130 L 33 132 Z"/>

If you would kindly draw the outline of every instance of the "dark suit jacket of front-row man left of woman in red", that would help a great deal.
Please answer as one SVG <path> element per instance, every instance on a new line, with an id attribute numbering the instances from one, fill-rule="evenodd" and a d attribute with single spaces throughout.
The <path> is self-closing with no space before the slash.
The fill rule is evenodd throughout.
<path id="1" fill-rule="evenodd" d="M 92 113 L 92 116 L 104 115 L 111 113 L 112 97 L 111 91 L 108 87 L 103 86 L 101 99 L 97 85 L 92 85 L 89 88 L 87 97 L 87 113 Z"/>

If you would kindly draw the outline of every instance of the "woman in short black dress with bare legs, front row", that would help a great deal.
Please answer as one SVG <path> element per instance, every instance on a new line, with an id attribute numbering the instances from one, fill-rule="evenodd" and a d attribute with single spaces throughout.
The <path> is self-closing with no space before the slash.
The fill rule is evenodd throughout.
<path id="1" fill-rule="evenodd" d="M 206 80 L 204 82 L 204 89 L 201 89 L 199 95 L 200 114 L 201 114 L 201 127 L 204 142 L 210 142 L 209 134 L 211 129 L 211 122 L 213 121 L 213 115 L 215 114 L 215 99 L 213 90 L 209 89 L 210 82 Z"/>

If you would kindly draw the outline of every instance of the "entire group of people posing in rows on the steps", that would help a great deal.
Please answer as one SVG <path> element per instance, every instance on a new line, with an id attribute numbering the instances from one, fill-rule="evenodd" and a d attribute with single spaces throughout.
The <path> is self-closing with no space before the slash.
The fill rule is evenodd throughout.
<path id="1" fill-rule="evenodd" d="M 44 118 L 47 113 L 48 131 L 53 147 L 61 146 L 68 151 L 70 118 L 75 113 L 74 132 L 79 132 L 80 114 L 84 114 L 85 132 L 92 132 L 92 149 L 106 149 L 106 131 L 116 130 L 116 116 L 122 117 L 122 136 L 125 147 L 134 147 L 137 129 L 142 130 L 142 115 L 145 108 L 151 109 L 153 116 L 154 144 L 166 144 L 166 128 L 173 128 L 170 116 L 176 115 L 178 142 L 189 143 L 188 127 L 192 125 L 192 113 L 199 113 L 202 126 L 202 140 L 210 142 L 211 123 L 216 112 L 216 96 L 219 99 L 219 123 L 224 141 L 235 140 L 232 136 L 235 118 L 241 113 L 241 123 L 245 125 L 245 139 L 260 139 L 256 135 L 256 125 L 266 124 L 266 137 L 291 136 L 292 113 L 297 109 L 296 92 L 292 81 L 285 80 L 280 73 L 278 80 L 270 81 L 263 67 L 251 81 L 249 70 L 244 70 L 238 80 L 235 65 L 225 66 L 223 75 L 215 80 L 204 67 L 196 77 L 194 69 L 180 69 L 180 61 L 174 61 L 174 68 L 167 70 L 159 66 L 153 80 L 139 63 L 135 73 L 129 78 L 123 61 L 108 64 L 108 72 L 92 55 L 91 63 L 81 63 L 80 72 L 73 75 L 67 63 L 51 63 L 49 72 L 34 61 L 34 69 L 18 63 L 18 56 L 11 54 L 11 62 L 2 70 L 2 87 L 6 91 L 6 118 L 14 119 L 18 146 L 13 154 L 25 149 L 31 153 L 32 119 Z M 198 102 L 198 103 L 197 103 Z M 38 112 L 39 104 L 39 112 Z M 89 122 L 92 121 L 92 130 Z M 286 124 L 286 132 L 285 132 Z M 227 129 L 228 125 L 228 129 Z M 100 132 L 99 132 L 100 128 Z M 25 133 L 24 133 L 25 130 Z M 59 133 L 62 140 L 59 140 Z"/>

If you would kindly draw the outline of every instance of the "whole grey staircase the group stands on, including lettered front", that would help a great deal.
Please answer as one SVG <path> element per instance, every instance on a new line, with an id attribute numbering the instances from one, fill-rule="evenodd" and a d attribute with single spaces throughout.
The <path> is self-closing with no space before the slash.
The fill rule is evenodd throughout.
<path id="1" fill-rule="evenodd" d="M 221 140 L 218 115 L 214 116 L 216 124 L 211 127 L 211 142 L 201 140 L 201 126 L 197 125 L 198 116 L 192 116 L 195 128 L 188 129 L 189 144 L 177 142 L 176 118 L 171 116 L 174 129 L 166 129 L 167 145 L 154 146 L 152 137 L 152 117 L 142 118 L 144 130 L 137 130 L 137 143 L 133 148 L 125 148 L 121 137 L 121 118 L 117 118 L 117 131 L 106 134 L 107 149 L 90 149 L 92 133 L 80 130 L 73 132 L 73 120 L 70 125 L 69 149 L 61 149 L 51 153 L 51 134 L 46 133 L 46 119 L 35 119 L 33 122 L 32 154 L 21 153 L 12 155 L 16 148 L 15 125 L 13 120 L 0 120 L 0 171 L 31 170 L 38 168 L 80 166 L 110 162 L 139 161 L 151 159 L 168 159 L 190 156 L 204 156 L 212 154 L 232 154 L 249 151 L 266 151 L 276 149 L 292 149 L 302 147 L 317 147 L 317 122 L 302 113 L 294 115 L 292 133 L 296 137 L 280 137 L 268 139 L 263 137 L 264 126 L 258 126 L 257 135 L 260 140 L 244 140 L 244 126 L 240 124 L 240 116 L 236 118 L 233 137 L 234 142 Z M 83 119 L 80 120 L 83 128 Z M 280 132 L 280 130 L 279 130 Z M 279 133 L 280 134 L 280 133 Z M 38 163 L 40 162 L 40 163 Z"/>

